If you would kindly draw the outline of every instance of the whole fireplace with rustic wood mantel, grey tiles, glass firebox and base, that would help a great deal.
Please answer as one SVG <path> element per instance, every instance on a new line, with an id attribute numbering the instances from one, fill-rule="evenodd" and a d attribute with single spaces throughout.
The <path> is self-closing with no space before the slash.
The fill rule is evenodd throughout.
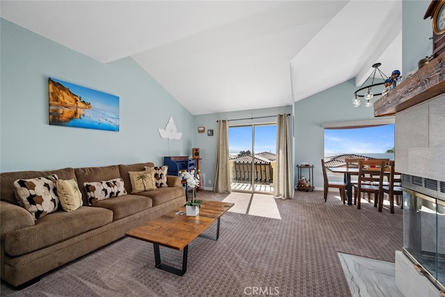
<path id="1" fill-rule="evenodd" d="M 376 117 L 395 115 L 396 171 L 405 190 L 396 285 L 404 296 L 445 296 L 444 61 L 445 52 L 374 104 Z"/>

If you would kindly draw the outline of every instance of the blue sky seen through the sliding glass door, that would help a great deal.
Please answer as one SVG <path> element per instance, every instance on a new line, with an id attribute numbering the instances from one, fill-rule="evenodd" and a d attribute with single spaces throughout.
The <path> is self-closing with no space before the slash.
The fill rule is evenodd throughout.
<path id="1" fill-rule="evenodd" d="M 254 152 L 273 152 L 277 147 L 277 126 L 258 125 L 255 126 Z M 229 154 L 239 154 L 241 151 L 252 151 L 252 126 L 229 128 Z"/>

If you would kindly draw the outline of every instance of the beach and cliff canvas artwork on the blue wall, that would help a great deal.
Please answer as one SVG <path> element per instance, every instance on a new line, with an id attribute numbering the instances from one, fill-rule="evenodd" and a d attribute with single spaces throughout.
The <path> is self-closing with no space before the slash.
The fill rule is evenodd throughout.
<path id="1" fill-rule="evenodd" d="M 119 131 L 119 97 L 49 78 L 49 125 Z"/>

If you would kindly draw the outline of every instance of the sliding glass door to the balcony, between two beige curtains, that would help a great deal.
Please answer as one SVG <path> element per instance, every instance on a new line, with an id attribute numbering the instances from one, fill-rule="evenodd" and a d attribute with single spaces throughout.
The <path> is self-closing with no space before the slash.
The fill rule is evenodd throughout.
<path id="1" fill-rule="evenodd" d="M 232 191 L 273 192 L 277 126 L 229 127 Z"/>

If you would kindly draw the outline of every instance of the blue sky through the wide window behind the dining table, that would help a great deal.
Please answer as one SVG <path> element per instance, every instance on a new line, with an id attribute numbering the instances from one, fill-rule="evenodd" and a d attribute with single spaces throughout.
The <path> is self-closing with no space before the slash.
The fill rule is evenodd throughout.
<path id="1" fill-rule="evenodd" d="M 325 154 L 384 154 L 393 147 L 394 124 L 357 129 L 325 129 Z"/>

